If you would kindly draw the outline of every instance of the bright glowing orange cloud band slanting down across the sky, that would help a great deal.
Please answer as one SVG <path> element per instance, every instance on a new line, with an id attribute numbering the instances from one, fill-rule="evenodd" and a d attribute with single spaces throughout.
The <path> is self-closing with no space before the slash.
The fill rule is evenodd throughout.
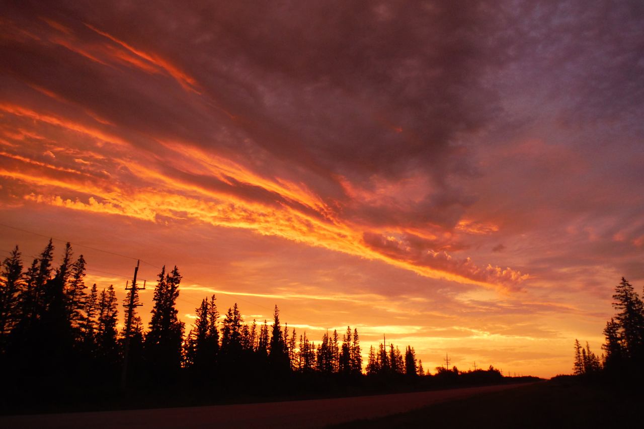
<path id="1" fill-rule="evenodd" d="M 39 122 L 71 129 L 86 138 L 97 138 L 115 143 L 115 149 L 131 146 L 120 137 L 110 135 L 96 128 L 90 128 L 61 117 L 37 111 L 0 104 L 0 110 L 28 117 Z M 330 207 L 311 189 L 282 178 L 266 178 L 236 162 L 207 153 L 187 143 L 162 142 L 158 158 L 120 159 L 112 155 L 111 162 L 123 166 L 137 176 L 140 185 L 132 187 L 117 180 L 99 179 L 82 173 L 71 176 L 52 176 L 44 171 L 59 171 L 69 175 L 79 173 L 77 157 L 70 158 L 68 166 L 35 161 L 23 155 L 3 153 L 8 158 L 41 167 L 37 171 L 15 171 L 0 169 L 0 175 L 28 182 L 39 187 L 38 192 L 24 195 L 25 200 L 41 204 L 66 207 L 88 213 L 118 214 L 150 222 L 160 219 L 204 222 L 215 226 L 251 229 L 256 233 L 279 236 L 287 240 L 324 247 L 361 258 L 381 260 L 402 269 L 410 270 L 429 278 L 443 278 L 460 283 L 471 283 L 484 287 L 512 289 L 527 275 L 511 269 L 488 265 L 477 267 L 469 258 L 457 260 L 445 251 L 427 251 L 422 247 L 410 247 L 395 237 L 377 244 L 365 241 L 363 231 L 377 236 L 377 229 L 366 224 L 355 224 L 343 219 L 334 207 Z M 172 159 L 175 170 L 159 167 L 155 162 Z M 57 160 L 56 160 L 57 161 Z M 53 162 L 53 161 L 52 161 Z M 84 168 L 91 168 L 83 164 Z M 66 189 L 86 196 L 64 198 L 55 189 Z M 380 191 L 379 191 L 380 193 Z M 469 221 L 462 221 L 464 227 L 475 231 L 491 233 L 493 227 L 481 227 Z M 406 234 L 404 226 L 400 231 Z M 430 234 L 432 235 L 432 234 Z M 433 235 L 432 235 L 433 236 Z M 422 245 L 422 238 L 413 246 Z"/>

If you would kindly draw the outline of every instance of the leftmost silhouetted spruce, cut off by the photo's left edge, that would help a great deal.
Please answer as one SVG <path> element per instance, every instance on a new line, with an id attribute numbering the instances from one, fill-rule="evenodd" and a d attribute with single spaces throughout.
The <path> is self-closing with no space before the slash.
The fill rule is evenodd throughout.
<path id="1" fill-rule="evenodd" d="M 23 263 L 15 246 L 0 271 L 0 355 L 5 354 L 9 333 L 18 321 L 19 294 L 23 289 Z"/>

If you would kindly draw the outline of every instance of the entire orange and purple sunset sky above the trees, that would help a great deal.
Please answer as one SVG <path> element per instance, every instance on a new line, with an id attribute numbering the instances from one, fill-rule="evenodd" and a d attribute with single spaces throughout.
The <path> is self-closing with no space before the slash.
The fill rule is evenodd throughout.
<path id="1" fill-rule="evenodd" d="M 644 285 L 643 41 L 627 0 L 7 1 L 0 251 L 569 374 Z"/>

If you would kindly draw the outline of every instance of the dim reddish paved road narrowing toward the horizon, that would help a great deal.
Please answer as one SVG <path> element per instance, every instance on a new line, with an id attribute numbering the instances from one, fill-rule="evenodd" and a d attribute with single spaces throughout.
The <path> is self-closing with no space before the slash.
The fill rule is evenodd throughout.
<path id="1" fill-rule="evenodd" d="M 259 404 L 12 415 L 0 417 L 0 428 L 323 428 L 328 424 L 383 417 L 433 403 L 498 392 L 516 386 L 520 385 Z"/>

